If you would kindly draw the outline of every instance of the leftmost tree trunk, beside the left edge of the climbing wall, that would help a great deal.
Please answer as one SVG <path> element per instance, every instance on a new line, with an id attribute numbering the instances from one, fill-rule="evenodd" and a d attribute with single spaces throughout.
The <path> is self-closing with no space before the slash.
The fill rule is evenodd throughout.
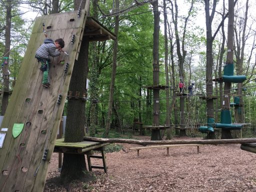
<path id="1" fill-rule="evenodd" d="M 11 0 L 6 1 L 5 33 L 4 33 L 4 52 L 5 61 L 2 67 L 2 115 L 4 115 L 9 99 L 9 51 L 10 51 L 10 28 L 11 28 Z"/>

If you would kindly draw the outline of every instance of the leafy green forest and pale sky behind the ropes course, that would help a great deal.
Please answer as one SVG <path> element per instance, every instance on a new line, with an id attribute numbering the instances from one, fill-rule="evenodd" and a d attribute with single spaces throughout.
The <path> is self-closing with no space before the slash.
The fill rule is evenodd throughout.
<path id="1" fill-rule="evenodd" d="M 159 84 L 169 86 L 169 96 L 165 91 L 160 91 L 160 124 L 166 124 L 166 101 L 169 99 L 169 111 L 171 124 L 180 124 L 179 97 L 176 97 L 178 91 L 179 65 L 177 57 L 177 36 L 182 42 L 182 51 L 185 51 L 184 58 L 184 76 L 182 80 L 185 86 L 194 83 L 193 95 L 187 97 L 185 103 L 185 120 L 187 124 L 206 123 L 206 101 L 199 98 L 206 92 L 206 30 L 205 30 L 205 0 L 167 0 L 166 11 L 163 11 L 162 2 L 159 1 L 160 11 L 160 36 L 159 36 Z M 151 0 L 125 0 L 119 1 L 119 8 L 115 9 L 113 1 L 93 0 L 98 7 L 97 20 L 106 28 L 114 31 L 114 16 L 119 15 L 118 28 L 118 48 L 116 59 L 116 74 L 113 94 L 113 105 L 111 115 L 111 127 L 122 131 L 124 128 L 133 126 L 134 121 L 142 122 L 144 125 L 152 124 L 152 91 L 143 86 L 152 85 L 152 48 L 153 48 L 153 10 L 150 4 Z M 215 16 L 212 20 L 212 30 L 215 31 L 227 12 L 227 5 L 224 0 L 213 0 L 217 3 Z M 175 8 L 177 5 L 177 9 Z M 234 22 L 234 64 L 241 57 L 242 74 L 247 76 L 242 87 L 244 102 L 243 122 L 251 123 L 250 128 L 246 129 L 247 136 L 255 133 L 255 121 L 253 116 L 255 109 L 255 14 L 254 7 L 256 3 L 253 0 L 237 0 L 235 4 L 235 22 Z M 27 9 L 28 8 L 28 9 Z M 0 54 L 1 58 L 1 90 L 11 91 L 16 80 L 22 58 L 26 51 L 26 46 L 30 37 L 34 18 L 30 15 L 39 16 L 43 14 L 66 12 L 73 10 L 73 2 L 67 0 L 52 1 L 0 1 Z M 27 12 L 28 11 L 28 12 Z M 166 54 L 163 35 L 163 14 L 167 15 L 167 68 L 164 65 L 164 56 Z M 175 20 L 175 14 L 177 20 Z M 24 16 L 25 15 L 25 16 Z M 27 16 L 29 15 L 29 16 Z M 95 15 L 95 14 L 94 14 Z M 28 18 L 30 17 L 30 18 Z M 188 19 L 186 19 L 188 18 Z M 174 24 L 177 23 L 177 30 Z M 221 45 L 226 43 L 227 19 L 223 24 L 223 30 L 216 33 L 213 41 L 213 72 L 212 78 L 218 78 L 222 74 L 226 57 L 226 46 L 221 49 Z M 184 29 L 185 35 L 184 34 Z M 42 32 L 43 35 L 43 32 Z M 224 40 L 223 40 L 224 39 Z M 96 108 L 93 113 L 96 117 L 96 130 L 106 126 L 108 112 L 109 84 L 111 82 L 113 41 L 102 41 L 96 43 L 96 51 L 90 44 L 89 51 L 89 72 L 90 80 L 86 111 L 85 127 L 90 127 L 91 105 L 93 100 L 91 94 L 96 95 Z M 10 49 L 10 51 L 9 51 Z M 181 50 L 181 48 L 180 48 Z M 243 50 L 243 51 L 241 51 Z M 97 54 L 96 64 L 95 54 Z M 222 57 L 222 58 L 221 58 Z M 221 59 L 220 59 L 221 58 Z M 234 67 L 237 70 L 237 67 Z M 168 82 L 166 82 L 166 73 Z M 236 73 L 236 71 L 234 72 Z M 7 83 L 8 81 L 8 83 Z M 93 86 L 91 86 L 93 85 Z M 235 93 L 237 84 L 232 84 L 231 92 Z M 92 88 L 93 87 L 93 88 Z M 222 97 L 219 83 L 213 83 L 213 94 Z M 187 91 L 187 90 L 186 90 Z M 1 94 L 2 103 L 4 94 Z M 8 97 L 7 97 L 8 98 Z M 232 102 L 232 97 L 230 102 Z M 95 100 L 94 100 L 95 102 Z M 4 114 L 4 104 L 1 107 L 1 113 Z M 214 100 L 214 118 L 219 121 L 222 100 Z M 232 107 L 230 108 L 231 112 Z M 66 115 L 66 108 L 63 111 Z M 236 119 L 232 119 L 236 122 Z M 89 132 L 89 131 L 88 131 Z"/>

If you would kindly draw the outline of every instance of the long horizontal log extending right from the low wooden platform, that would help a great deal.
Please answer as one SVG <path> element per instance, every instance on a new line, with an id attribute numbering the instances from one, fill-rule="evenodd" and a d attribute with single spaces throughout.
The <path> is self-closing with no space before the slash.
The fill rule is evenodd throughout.
<path id="1" fill-rule="evenodd" d="M 136 140 L 124 138 L 97 138 L 85 136 L 83 140 L 109 143 L 129 143 L 146 146 L 148 144 L 231 144 L 256 142 L 256 138 L 205 139 L 205 140 Z"/>

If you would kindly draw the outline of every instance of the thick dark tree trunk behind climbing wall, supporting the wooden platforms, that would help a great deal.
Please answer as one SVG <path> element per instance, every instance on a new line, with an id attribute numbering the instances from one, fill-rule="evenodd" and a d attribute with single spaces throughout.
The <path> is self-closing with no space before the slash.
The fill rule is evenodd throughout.
<path id="1" fill-rule="evenodd" d="M 83 1 L 83 3 L 85 4 L 85 1 Z M 84 7 L 84 4 L 81 4 L 81 7 Z M 75 9 L 77 10 L 78 7 L 75 7 Z M 80 95 L 83 94 L 86 86 L 85 74 L 87 74 L 88 65 L 88 44 L 88 38 L 83 38 L 78 60 L 74 62 L 69 85 L 69 91 L 72 91 L 72 93 L 79 92 Z M 83 140 L 85 125 L 84 114 L 84 101 L 80 99 L 68 100 L 64 142 L 80 142 Z M 81 178 L 81 176 L 85 175 L 84 170 L 86 170 L 84 155 L 64 153 L 60 173 L 63 183 Z"/>

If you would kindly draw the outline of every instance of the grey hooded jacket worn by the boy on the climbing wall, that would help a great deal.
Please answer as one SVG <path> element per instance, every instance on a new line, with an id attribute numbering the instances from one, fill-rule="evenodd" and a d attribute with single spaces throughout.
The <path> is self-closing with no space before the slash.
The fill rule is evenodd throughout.
<path id="1" fill-rule="evenodd" d="M 58 56 L 60 51 L 56 50 L 54 41 L 50 38 L 45 39 L 44 43 L 36 50 L 36 57 L 49 59 L 49 56 Z"/>

